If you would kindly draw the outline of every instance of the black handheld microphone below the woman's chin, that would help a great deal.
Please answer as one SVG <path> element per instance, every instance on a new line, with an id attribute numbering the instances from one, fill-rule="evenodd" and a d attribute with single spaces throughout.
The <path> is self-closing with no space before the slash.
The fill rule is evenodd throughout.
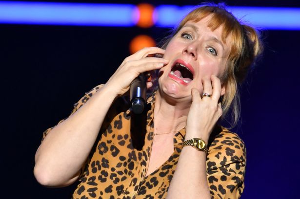
<path id="1" fill-rule="evenodd" d="M 140 73 L 130 84 L 130 104 L 135 114 L 143 112 L 146 104 L 146 84 L 145 73 Z"/>

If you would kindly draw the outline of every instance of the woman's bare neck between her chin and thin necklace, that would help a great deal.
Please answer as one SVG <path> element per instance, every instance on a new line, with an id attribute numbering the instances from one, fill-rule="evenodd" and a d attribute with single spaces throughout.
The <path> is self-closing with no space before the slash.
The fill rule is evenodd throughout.
<path id="1" fill-rule="evenodd" d="M 154 107 L 155 133 L 178 132 L 185 126 L 189 108 L 190 103 L 162 97 L 158 90 Z"/>

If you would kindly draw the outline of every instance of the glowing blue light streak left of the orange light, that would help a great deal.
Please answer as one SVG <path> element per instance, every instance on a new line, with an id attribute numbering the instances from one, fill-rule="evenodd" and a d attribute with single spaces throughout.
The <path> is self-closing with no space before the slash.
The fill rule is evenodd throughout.
<path id="1" fill-rule="evenodd" d="M 0 1 L 0 23 L 134 26 L 138 18 L 130 4 Z"/>

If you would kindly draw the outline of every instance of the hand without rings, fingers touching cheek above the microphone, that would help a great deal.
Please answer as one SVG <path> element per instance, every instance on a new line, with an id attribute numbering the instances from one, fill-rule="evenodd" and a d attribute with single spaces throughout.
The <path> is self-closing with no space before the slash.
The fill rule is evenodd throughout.
<path id="1" fill-rule="evenodd" d="M 147 57 L 150 54 L 164 54 L 164 51 L 158 47 L 143 48 L 126 57 L 105 87 L 110 87 L 119 96 L 124 94 L 140 73 L 160 69 L 168 63 L 168 60 L 163 58 Z"/>

